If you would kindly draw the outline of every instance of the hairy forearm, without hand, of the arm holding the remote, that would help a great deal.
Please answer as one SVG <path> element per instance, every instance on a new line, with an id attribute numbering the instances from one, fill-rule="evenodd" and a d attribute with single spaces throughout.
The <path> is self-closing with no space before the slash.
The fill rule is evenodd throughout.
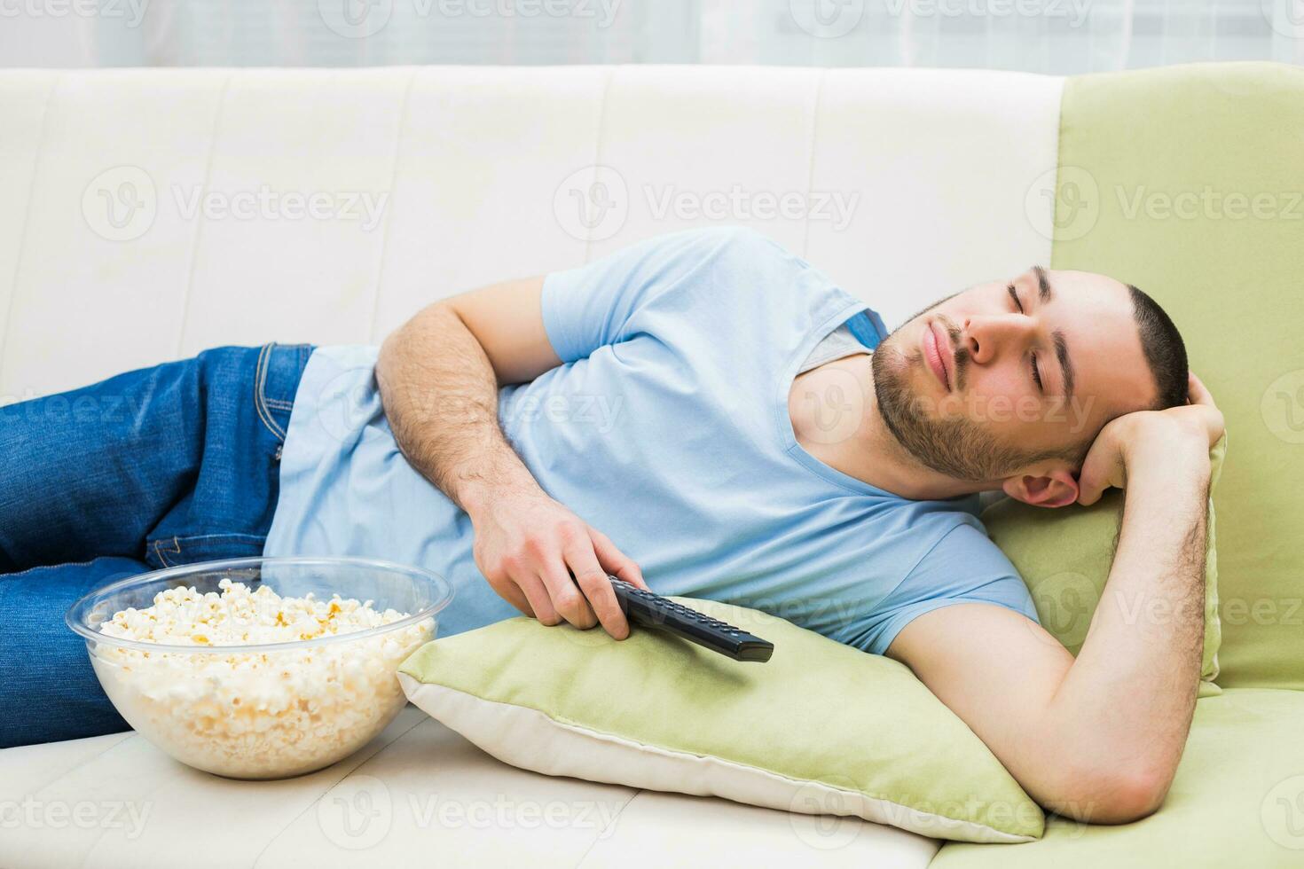
<path id="1" fill-rule="evenodd" d="M 498 425 L 493 366 L 451 307 L 432 305 L 390 335 L 376 377 L 399 449 L 464 511 L 507 489 L 539 489 Z"/>

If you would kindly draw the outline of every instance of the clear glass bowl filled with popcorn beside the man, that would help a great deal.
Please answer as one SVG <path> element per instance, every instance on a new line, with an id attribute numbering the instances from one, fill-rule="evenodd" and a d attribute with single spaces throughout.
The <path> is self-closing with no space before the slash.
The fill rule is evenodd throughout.
<path id="1" fill-rule="evenodd" d="M 145 610 L 170 589 L 220 594 L 222 580 L 250 590 L 266 586 L 280 598 L 312 593 L 327 610 L 339 594 L 370 601 L 377 612 L 407 615 L 351 633 L 245 645 L 163 645 L 100 631 L 115 614 Z M 65 621 L 86 638 L 99 684 L 138 734 L 196 769 L 273 779 L 330 766 L 394 719 L 407 702 L 398 666 L 434 637 L 436 614 L 451 599 L 447 580 L 415 567 L 352 558 L 245 558 L 113 582 L 74 603 Z M 183 621 L 202 625 L 211 601 L 186 603 Z M 271 611 L 280 607 L 270 594 L 245 603 L 228 624 L 248 623 L 256 636 L 259 624 L 284 624 Z M 299 615 L 310 620 L 296 625 L 323 623 Z M 140 612 L 132 618 L 149 619 Z M 192 641 L 214 642 L 202 627 Z"/>

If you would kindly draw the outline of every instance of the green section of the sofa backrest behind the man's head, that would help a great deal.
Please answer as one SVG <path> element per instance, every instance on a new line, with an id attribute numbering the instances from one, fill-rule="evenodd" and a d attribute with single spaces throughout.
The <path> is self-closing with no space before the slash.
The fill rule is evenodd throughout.
<path id="1" fill-rule="evenodd" d="M 1071 78 L 1059 163 L 1051 264 L 1154 296 L 1236 443 L 1214 499 L 1218 683 L 1304 688 L 1304 69 Z"/>

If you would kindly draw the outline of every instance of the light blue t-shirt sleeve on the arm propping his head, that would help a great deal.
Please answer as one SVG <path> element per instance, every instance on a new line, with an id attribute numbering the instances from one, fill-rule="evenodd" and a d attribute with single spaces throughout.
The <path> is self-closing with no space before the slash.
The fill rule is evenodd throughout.
<path id="1" fill-rule="evenodd" d="M 867 621 L 854 645 L 885 654 L 901 629 L 925 612 L 956 603 L 995 603 L 1037 621 L 1028 586 L 1005 554 L 975 525 L 957 525 L 928 550 Z"/>

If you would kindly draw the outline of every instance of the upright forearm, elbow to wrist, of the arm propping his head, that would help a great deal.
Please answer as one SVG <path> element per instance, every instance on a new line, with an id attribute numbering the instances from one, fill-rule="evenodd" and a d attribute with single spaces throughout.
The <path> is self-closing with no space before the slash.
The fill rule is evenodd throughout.
<path id="1" fill-rule="evenodd" d="M 1127 770 L 1138 795 L 1150 795 L 1154 805 L 1133 805 L 1133 813 L 1158 808 L 1194 710 L 1208 502 L 1206 456 L 1136 463 L 1104 593 L 1047 707 L 1046 730 L 1071 737 L 1077 758 L 1097 769 L 1108 760 Z"/>

